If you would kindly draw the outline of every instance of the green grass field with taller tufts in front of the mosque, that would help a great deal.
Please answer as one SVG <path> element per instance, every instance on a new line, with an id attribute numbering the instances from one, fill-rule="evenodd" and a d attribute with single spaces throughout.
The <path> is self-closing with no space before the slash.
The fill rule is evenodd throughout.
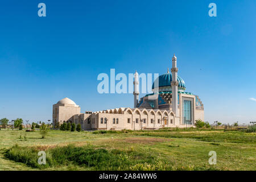
<path id="1" fill-rule="evenodd" d="M 47 165 L 36 164 L 41 150 L 47 153 Z M 208 163 L 209 151 L 216 151 L 216 165 Z M 0 170 L 104 169 L 255 170 L 256 135 L 196 129 L 51 130 L 42 139 L 39 131 L 0 130 Z"/>

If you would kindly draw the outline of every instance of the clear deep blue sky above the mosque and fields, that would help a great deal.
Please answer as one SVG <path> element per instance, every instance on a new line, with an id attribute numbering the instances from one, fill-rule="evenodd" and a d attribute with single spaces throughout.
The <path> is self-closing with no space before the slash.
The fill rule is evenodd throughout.
<path id="1" fill-rule="evenodd" d="M 0 118 L 47 121 L 64 97 L 82 112 L 133 107 L 133 94 L 99 94 L 98 74 L 161 75 L 175 53 L 205 121 L 256 121 L 255 12 L 255 0 L 3 1 Z"/>

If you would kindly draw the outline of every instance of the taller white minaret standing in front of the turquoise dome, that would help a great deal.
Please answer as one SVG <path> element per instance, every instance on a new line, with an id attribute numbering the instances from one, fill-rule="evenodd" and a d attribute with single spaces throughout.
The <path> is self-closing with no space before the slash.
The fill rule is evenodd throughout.
<path id="1" fill-rule="evenodd" d="M 177 112 L 177 86 L 179 85 L 179 82 L 177 81 L 177 57 L 174 55 L 172 57 L 172 111 L 175 114 L 175 117 L 177 117 L 178 112 Z"/>

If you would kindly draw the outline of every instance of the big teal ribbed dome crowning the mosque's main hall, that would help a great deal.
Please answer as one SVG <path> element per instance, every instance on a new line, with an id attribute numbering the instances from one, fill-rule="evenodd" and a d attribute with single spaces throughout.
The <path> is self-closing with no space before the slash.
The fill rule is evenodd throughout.
<path id="1" fill-rule="evenodd" d="M 158 80 L 159 87 L 171 86 L 171 81 L 172 81 L 172 74 L 171 73 L 165 73 L 164 75 L 160 75 L 158 78 L 159 78 L 159 80 Z M 185 87 L 185 82 L 181 77 L 177 76 L 177 81 L 179 82 L 179 85 L 178 85 L 179 87 L 186 88 Z M 154 88 L 155 88 L 155 81 L 152 85 L 152 89 L 154 89 Z"/>

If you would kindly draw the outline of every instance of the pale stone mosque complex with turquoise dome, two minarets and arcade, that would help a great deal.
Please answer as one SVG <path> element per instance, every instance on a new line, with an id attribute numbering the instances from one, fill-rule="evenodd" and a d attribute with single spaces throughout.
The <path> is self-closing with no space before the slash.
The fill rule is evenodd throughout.
<path id="1" fill-rule="evenodd" d="M 139 100 L 139 75 L 134 74 L 134 107 L 120 107 L 81 113 L 79 105 L 64 98 L 53 105 L 53 124 L 74 122 L 82 130 L 150 130 L 163 127 L 195 127 L 204 120 L 199 96 L 185 92 L 185 82 L 177 76 L 177 57 L 172 57 L 171 73 L 160 75 L 152 84 L 152 94 Z"/>

